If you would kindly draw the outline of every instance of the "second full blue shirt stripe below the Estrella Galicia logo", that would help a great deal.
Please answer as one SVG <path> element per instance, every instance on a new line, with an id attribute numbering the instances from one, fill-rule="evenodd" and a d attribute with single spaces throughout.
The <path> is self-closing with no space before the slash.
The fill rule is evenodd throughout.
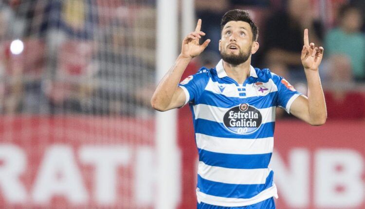
<path id="1" fill-rule="evenodd" d="M 235 169 L 268 168 L 272 153 L 237 155 L 206 151 L 198 148 L 199 160 L 206 165 Z"/>

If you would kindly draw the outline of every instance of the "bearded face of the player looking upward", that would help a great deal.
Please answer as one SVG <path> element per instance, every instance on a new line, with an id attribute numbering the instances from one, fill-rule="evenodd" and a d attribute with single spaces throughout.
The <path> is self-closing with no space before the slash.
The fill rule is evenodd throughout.
<path id="1" fill-rule="evenodd" d="M 248 60 L 253 50 L 253 33 L 250 24 L 243 21 L 229 21 L 222 30 L 219 51 L 222 59 L 232 65 Z"/>

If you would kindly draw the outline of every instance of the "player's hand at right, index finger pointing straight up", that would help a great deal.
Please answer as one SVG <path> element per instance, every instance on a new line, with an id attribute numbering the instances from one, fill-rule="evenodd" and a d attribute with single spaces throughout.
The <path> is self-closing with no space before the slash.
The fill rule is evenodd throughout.
<path id="1" fill-rule="evenodd" d="M 309 43 L 308 29 L 304 30 L 304 46 L 302 50 L 302 64 L 305 70 L 318 70 L 323 57 L 323 47 L 316 47 L 314 43 Z"/>

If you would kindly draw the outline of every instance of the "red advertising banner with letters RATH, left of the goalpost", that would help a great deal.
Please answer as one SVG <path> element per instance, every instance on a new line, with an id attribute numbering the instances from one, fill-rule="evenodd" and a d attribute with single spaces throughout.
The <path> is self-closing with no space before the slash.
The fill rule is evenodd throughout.
<path id="1" fill-rule="evenodd" d="M 0 208 L 152 208 L 151 136 L 150 120 L 1 117 Z"/>

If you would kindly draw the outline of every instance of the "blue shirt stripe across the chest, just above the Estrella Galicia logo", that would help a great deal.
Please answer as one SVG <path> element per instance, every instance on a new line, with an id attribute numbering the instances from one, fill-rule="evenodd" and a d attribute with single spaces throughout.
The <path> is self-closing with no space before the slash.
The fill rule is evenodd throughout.
<path id="1" fill-rule="evenodd" d="M 211 91 L 204 90 L 201 97 L 195 104 L 208 104 L 212 106 L 218 106 L 223 108 L 229 108 L 236 106 L 235 104 L 248 103 L 256 108 L 268 108 L 276 106 L 277 91 L 271 92 L 266 96 L 260 97 L 248 97 L 240 99 L 238 97 L 226 97 L 222 94 L 216 94 Z"/>

